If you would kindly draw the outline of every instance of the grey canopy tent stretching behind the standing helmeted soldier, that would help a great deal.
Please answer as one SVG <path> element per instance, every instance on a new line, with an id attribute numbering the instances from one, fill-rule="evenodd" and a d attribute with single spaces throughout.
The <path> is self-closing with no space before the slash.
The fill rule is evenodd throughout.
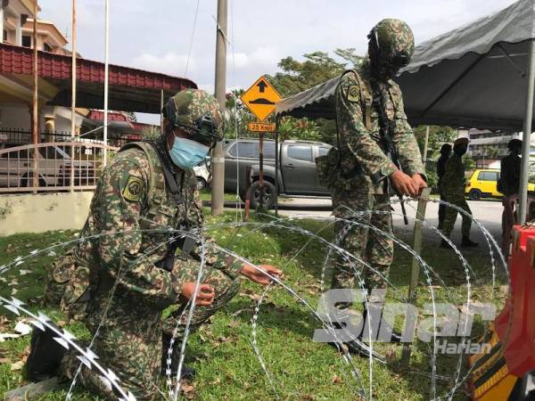
<path id="1" fill-rule="evenodd" d="M 535 0 L 520 0 L 416 46 L 395 78 L 410 123 L 531 132 L 534 38 Z M 333 119 L 337 80 L 278 102 L 276 113 Z M 529 151 L 530 141 L 524 141 L 524 196 Z"/>

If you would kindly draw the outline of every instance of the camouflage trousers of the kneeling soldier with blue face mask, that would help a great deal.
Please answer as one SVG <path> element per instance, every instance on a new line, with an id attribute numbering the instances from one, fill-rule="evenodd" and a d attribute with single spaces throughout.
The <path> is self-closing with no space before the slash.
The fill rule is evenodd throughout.
<path id="1" fill-rule="evenodd" d="M 195 270 L 185 272 L 186 282 L 195 282 Z M 206 322 L 218 309 L 224 307 L 239 289 L 239 282 L 234 277 L 215 268 L 207 271 L 202 282 L 210 284 L 215 291 L 215 299 L 210 307 L 195 307 L 190 330 L 198 328 Z M 105 297 L 94 299 L 86 318 L 92 334 L 101 323 Z M 138 400 L 162 399 L 160 389 L 163 383 L 161 377 L 162 335 L 172 333 L 177 329 L 174 348 L 179 349 L 182 344 L 185 322 L 188 312 L 180 318 L 185 303 L 170 315 L 165 321 L 161 318 L 161 309 L 154 308 L 136 299 L 131 292 L 116 291 L 111 297 L 111 307 L 106 319 L 101 323 L 99 334 L 95 339 L 92 350 L 98 356 L 98 362 L 105 369 L 117 374 L 122 389 L 129 390 Z M 71 380 L 80 362 L 75 354 L 68 353 L 62 360 L 62 375 Z M 117 395 L 110 389 L 106 381 L 95 370 L 83 366 L 78 381 L 95 393 L 108 399 L 117 399 Z"/>

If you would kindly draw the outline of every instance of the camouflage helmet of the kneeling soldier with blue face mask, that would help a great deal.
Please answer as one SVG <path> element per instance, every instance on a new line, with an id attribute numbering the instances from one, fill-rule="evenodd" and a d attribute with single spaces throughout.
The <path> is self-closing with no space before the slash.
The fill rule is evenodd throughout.
<path id="1" fill-rule="evenodd" d="M 163 117 L 194 141 L 210 145 L 223 139 L 224 111 L 217 99 L 201 89 L 185 89 L 169 98 Z"/>

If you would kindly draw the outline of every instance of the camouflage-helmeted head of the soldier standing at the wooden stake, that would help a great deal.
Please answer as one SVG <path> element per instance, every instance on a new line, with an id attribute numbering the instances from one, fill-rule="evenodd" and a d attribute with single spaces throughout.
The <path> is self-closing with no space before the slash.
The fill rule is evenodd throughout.
<path id="1" fill-rule="evenodd" d="M 370 60 L 378 78 L 390 79 L 406 67 L 415 52 L 415 37 L 407 22 L 386 19 L 368 35 Z"/>

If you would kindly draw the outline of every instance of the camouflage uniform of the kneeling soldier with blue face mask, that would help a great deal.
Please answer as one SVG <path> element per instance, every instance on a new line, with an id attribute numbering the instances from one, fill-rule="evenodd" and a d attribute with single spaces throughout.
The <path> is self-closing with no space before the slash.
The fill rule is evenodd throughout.
<path id="1" fill-rule="evenodd" d="M 84 241 L 75 250 L 76 271 L 74 275 L 70 273 L 72 277 L 62 295 L 65 310 L 80 309 L 79 315 L 84 315 L 77 304 L 83 305 L 80 295 L 87 282 L 93 283 L 85 322 L 92 334 L 99 324 L 100 329 L 92 349 L 99 362 L 117 374 L 124 388 L 140 400 L 160 398 L 157 390 L 161 384 L 162 331 L 169 334 L 178 326 L 175 348 L 180 347 L 185 328 L 184 319 L 177 322 L 185 307 L 184 299 L 180 298 L 182 283 L 195 282 L 200 268 L 198 248 L 189 257 L 182 255 L 184 258 L 177 250 L 170 272 L 159 266 L 167 256 L 166 242 L 177 235 L 169 233 L 169 228 L 202 234 L 202 203 L 193 170 L 174 170 L 181 204 L 169 192 L 161 161 L 152 145 L 130 143 L 119 151 L 99 179 L 80 238 L 106 235 Z M 202 282 L 213 287 L 215 299 L 210 307 L 195 308 L 192 330 L 232 299 L 239 288 L 235 277 L 240 262 L 210 249 L 204 257 Z M 70 263 L 57 264 L 52 274 L 55 283 L 69 275 L 65 269 L 61 273 L 62 266 L 71 268 Z M 51 285 L 48 292 L 53 293 L 54 288 L 62 286 Z M 49 296 L 53 298 L 53 294 Z M 110 307 L 104 318 L 108 302 Z M 171 305 L 179 307 L 162 322 L 161 312 Z M 68 354 L 62 361 L 62 373 L 71 379 L 79 364 L 76 355 Z M 84 367 L 80 376 L 86 387 L 104 397 L 116 398 L 97 372 Z"/>

